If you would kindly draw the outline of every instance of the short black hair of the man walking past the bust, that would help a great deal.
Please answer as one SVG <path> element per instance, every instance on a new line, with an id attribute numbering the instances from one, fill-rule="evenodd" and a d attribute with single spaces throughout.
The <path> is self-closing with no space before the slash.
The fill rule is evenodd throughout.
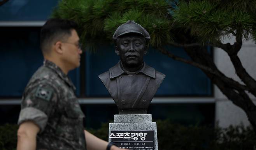
<path id="1" fill-rule="evenodd" d="M 42 26 L 40 33 L 40 47 L 44 52 L 49 51 L 49 46 L 57 40 L 71 36 L 71 30 L 77 30 L 77 24 L 67 19 L 49 19 Z"/>

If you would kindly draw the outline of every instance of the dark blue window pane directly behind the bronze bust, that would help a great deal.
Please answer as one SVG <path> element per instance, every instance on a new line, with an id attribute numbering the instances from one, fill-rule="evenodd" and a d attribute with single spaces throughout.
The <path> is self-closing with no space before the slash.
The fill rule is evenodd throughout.
<path id="1" fill-rule="evenodd" d="M 168 47 L 175 55 L 189 59 L 181 48 Z M 86 53 L 86 96 L 109 96 L 98 75 L 116 65 L 119 56 L 114 46 L 101 46 L 98 53 Z M 212 85 L 207 76 L 198 68 L 172 60 L 155 49 L 149 49 L 144 56 L 147 65 L 166 75 L 156 96 L 211 96 Z"/>

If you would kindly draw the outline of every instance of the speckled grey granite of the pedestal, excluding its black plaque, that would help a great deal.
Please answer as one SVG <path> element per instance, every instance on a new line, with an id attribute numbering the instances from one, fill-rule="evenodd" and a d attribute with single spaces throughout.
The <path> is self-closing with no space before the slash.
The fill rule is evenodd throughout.
<path id="1" fill-rule="evenodd" d="M 112 131 L 154 131 L 154 150 L 158 150 L 156 123 L 151 121 L 151 114 L 115 115 L 114 123 L 109 123 L 109 136 Z"/>

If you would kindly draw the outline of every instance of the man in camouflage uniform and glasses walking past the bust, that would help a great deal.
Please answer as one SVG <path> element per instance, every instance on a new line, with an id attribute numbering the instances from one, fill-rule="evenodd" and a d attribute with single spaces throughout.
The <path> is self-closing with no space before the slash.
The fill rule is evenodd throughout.
<path id="1" fill-rule="evenodd" d="M 84 114 L 67 76 L 80 65 L 75 29 L 74 22 L 64 19 L 50 19 L 42 27 L 45 61 L 23 93 L 18 150 L 121 150 L 83 129 Z"/>

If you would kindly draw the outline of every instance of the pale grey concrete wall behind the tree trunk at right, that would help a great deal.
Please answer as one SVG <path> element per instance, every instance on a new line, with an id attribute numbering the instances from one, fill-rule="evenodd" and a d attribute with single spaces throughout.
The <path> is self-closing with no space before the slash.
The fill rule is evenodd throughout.
<path id="1" fill-rule="evenodd" d="M 223 40 L 224 43 L 233 44 L 235 41 L 232 39 Z M 254 41 L 244 41 L 243 46 L 238 53 L 242 64 L 245 69 L 254 79 L 256 78 L 256 44 Z M 223 72 L 226 76 L 231 77 L 238 82 L 242 83 L 240 78 L 235 74 L 235 68 L 233 67 L 229 56 L 225 51 L 219 48 L 214 48 L 214 61 L 217 68 Z M 254 103 L 256 103 L 256 98 L 249 94 Z M 214 98 L 216 101 L 215 109 L 215 121 L 219 122 L 219 126 L 228 127 L 229 125 L 238 125 L 243 123 L 244 125 L 249 125 L 249 121 L 245 112 L 239 107 L 235 106 L 227 97 L 218 89 L 214 87 Z"/>

